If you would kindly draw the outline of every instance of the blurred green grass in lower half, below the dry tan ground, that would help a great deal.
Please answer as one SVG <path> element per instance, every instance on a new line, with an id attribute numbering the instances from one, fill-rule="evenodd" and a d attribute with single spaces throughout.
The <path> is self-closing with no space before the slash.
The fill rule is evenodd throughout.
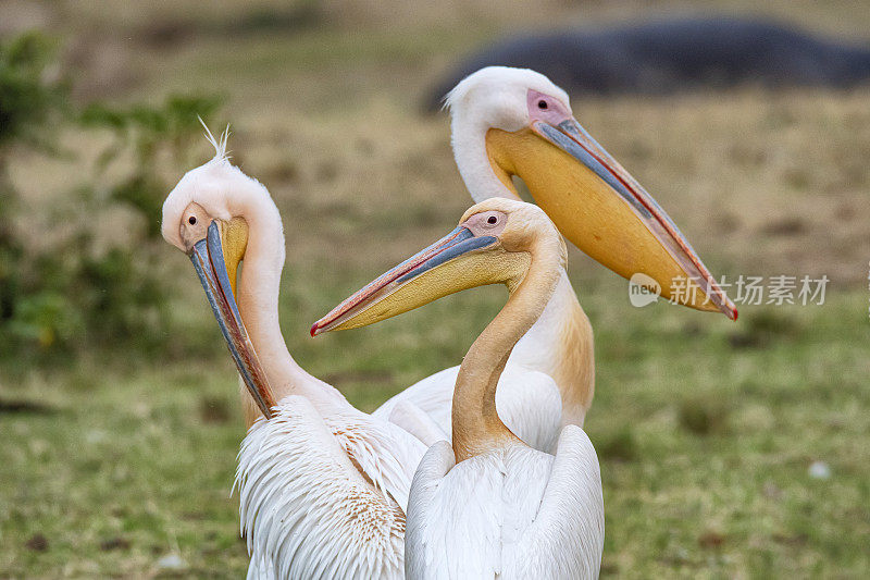
<path id="1" fill-rule="evenodd" d="M 303 366 L 372 409 L 459 361 L 502 299 L 496 287 L 467 293 L 323 341 L 306 340 L 285 306 L 284 326 Z M 606 576 L 862 575 L 866 306 L 863 293 L 836 293 L 818 307 L 746 308 L 738 326 L 669 306 L 587 301 L 598 378 L 586 430 L 605 482 Z M 621 323 L 600 323 L 611 316 Z M 768 333 L 765 346 L 733 340 L 770 316 L 780 322 L 755 331 Z M 185 576 L 244 572 L 228 496 L 244 432 L 227 360 L 124 372 L 95 362 L 72 377 L 35 374 L 13 393 L 39 393 L 50 410 L 3 417 L 4 575 L 138 576 L 170 552 Z M 813 461 L 830 479 L 810 477 Z M 38 535 L 45 552 L 26 547 Z"/>

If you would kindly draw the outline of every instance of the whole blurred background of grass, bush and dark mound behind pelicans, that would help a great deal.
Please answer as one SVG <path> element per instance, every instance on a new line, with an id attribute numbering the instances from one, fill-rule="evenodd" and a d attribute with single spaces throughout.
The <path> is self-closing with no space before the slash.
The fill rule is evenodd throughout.
<path id="1" fill-rule="evenodd" d="M 684 74 L 692 50 L 649 48 L 706 53 L 714 35 L 668 28 L 686 18 L 719 22 L 730 67 Z M 309 325 L 470 206 L 440 87 L 566 30 L 613 47 L 563 41 L 616 81 L 545 72 L 714 275 L 830 280 L 821 305 L 737 297 L 732 323 L 633 308 L 571 248 L 596 333 L 601 575 L 866 577 L 870 10 L 846 0 L 0 2 L 0 577 L 247 568 L 235 370 L 159 235 L 166 194 L 213 155 L 197 114 L 232 123 L 234 162 L 282 211 L 290 351 L 372 410 L 459 363 L 504 289 L 315 341 Z M 632 64 L 645 53 L 663 60 Z"/>

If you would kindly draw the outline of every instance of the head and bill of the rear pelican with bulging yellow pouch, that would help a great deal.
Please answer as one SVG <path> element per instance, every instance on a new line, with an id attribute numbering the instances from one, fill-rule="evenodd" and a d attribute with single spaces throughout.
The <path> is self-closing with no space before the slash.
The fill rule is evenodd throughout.
<path id="1" fill-rule="evenodd" d="M 475 201 L 519 199 L 522 178 L 571 243 L 618 274 L 651 276 L 661 295 L 698 310 L 737 310 L 652 197 L 574 119 L 546 76 L 489 66 L 447 96 L 459 171 Z M 686 292 L 674 293 L 682 285 Z"/>

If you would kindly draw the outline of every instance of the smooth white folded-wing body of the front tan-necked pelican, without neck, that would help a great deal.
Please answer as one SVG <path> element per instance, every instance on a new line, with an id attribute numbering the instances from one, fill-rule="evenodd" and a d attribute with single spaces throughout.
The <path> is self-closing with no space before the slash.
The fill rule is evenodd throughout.
<path id="1" fill-rule="evenodd" d="M 411 485 L 409 579 L 591 579 L 604 550 L 598 458 L 582 429 L 556 457 L 512 445 L 453 465 L 433 445 Z"/>

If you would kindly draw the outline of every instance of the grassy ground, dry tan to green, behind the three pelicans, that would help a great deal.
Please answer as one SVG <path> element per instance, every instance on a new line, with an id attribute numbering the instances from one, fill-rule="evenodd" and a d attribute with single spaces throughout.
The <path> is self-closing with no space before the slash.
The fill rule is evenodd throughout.
<path id="1" fill-rule="evenodd" d="M 515 2 L 495 14 L 484 2 L 457 4 L 423 15 L 395 2 L 262 4 L 286 16 L 281 29 L 233 3 L 211 15 L 185 2 L 4 10 L 67 40 L 78 98 L 226 96 L 234 158 L 285 218 L 290 350 L 372 409 L 456 365 L 504 300 L 500 288 L 484 288 L 375 328 L 307 337 L 314 319 L 443 235 L 469 205 L 446 120 L 417 113 L 424 88 L 456 54 L 505 30 L 643 15 L 631 1 L 545 2 L 535 13 Z M 655 4 L 674 7 L 689 4 Z M 820 7 L 772 2 L 763 12 L 848 36 L 870 25 L 850 2 Z M 859 578 L 870 569 L 868 98 L 870 89 L 744 88 L 573 103 L 714 273 L 832 279 L 823 306 L 744 307 L 730 323 L 631 308 L 624 281 L 572 251 L 596 330 L 586 428 L 606 485 L 602 575 Z M 70 168 L 27 156 L 16 165 L 38 214 Z M 197 356 L 94 353 L 66 370 L 0 368 L 2 399 L 27 403 L 0 412 L 0 577 L 244 572 L 229 496 L 244 435 L 236 380 L 189 262 L 169 247 L 165 256 L 159 275 L 189 329 L 166 340 Z M 810 476 L 817 461 L 828 479 Z M 181 556 L 179 569 L 158 565 L 169 554 Z"/>

